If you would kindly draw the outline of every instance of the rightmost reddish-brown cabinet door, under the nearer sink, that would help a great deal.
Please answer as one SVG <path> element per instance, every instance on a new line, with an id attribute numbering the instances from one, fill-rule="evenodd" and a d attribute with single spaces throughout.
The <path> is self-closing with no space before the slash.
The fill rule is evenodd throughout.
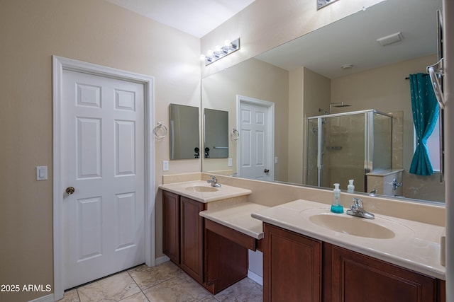
<path id="1" fill-rule="evenodd" d="M 333 275 L 330 280 L 332 286 L 330 301 L 430 302 L 437 300 L 435 278 L 358 252 L 333 245 L 331 247 Z"/>

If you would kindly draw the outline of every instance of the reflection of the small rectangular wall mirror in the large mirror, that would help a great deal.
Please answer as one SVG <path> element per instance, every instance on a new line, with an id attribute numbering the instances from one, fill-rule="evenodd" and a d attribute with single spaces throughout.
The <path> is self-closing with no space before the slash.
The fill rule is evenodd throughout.
<path id="1" fill-rule="evenodd" d="M 205 108 L 204 158 L 228 158 L 228 111 Z"/>

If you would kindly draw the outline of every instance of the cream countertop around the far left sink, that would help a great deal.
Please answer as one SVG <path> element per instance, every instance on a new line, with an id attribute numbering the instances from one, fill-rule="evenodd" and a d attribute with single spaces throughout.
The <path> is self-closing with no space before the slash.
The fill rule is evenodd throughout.
<path id="1" fill-rule="evenodd" d="M 231 187 L 230 185 L 221 185 L 221 187 L 214 188 L 204 180 L 176 182 L 167 185 L 160 185 L 159 187 L 162 190 L 170 191 L 184 197 L 189 197 L 203 203 L 216 202 L 217 200 L 239 197 L 252 193 L 251 190 L 243 189 L 241 187 Z M 188 188 L 191 187 L 207 187 L 209 189 L 213 188 L 216 190 L 214 192 L 197 192 L 188 190 Z"/>

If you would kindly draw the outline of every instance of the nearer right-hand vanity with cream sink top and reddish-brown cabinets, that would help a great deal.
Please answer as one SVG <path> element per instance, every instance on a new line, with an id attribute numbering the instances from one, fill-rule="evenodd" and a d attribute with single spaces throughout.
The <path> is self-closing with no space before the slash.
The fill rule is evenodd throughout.
<path id="1" fill-rule="evenodd" d="M 264 221 L 263 301 L 445 301 L 441 227 L 305 200 L 253 216 Z"/>

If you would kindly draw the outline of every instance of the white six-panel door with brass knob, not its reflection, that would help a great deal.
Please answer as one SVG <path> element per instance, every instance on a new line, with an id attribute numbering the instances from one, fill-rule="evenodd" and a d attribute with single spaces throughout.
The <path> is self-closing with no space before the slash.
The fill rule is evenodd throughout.
<path id="1" fill-rule="evenodd" d="M 140 83 L 65 70 L 62 91 L 68 289 L 145 262 L 145 113 Z"/>

